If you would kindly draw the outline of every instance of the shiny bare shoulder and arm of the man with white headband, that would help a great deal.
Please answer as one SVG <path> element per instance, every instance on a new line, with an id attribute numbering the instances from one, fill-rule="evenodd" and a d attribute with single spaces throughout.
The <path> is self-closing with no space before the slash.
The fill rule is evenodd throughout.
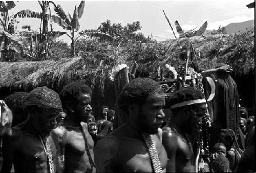
<path id="1" fill-rule="evenodd" d="M 177 137 L 172 132 L 163 129 L 162 144 L 166 150 L 168 162 L 166 172 L 176 172 Z"/>

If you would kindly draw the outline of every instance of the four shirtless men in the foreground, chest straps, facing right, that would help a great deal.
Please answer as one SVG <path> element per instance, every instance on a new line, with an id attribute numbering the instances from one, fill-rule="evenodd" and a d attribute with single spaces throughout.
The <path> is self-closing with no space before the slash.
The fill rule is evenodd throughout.
<path id="1" fill-rule="evenodd" d="M 26 98 L 27 120 L 4 136 L 2 172 L 12 164 L 16 172 L 195 172 L 189 135 L 205 114 L 205 96 L 188 87 L 168 98 L 172 119 L 161 128 L 162 88 L 150 78 L 132 80 L 117 103 L 126 123 L 94 146 L 88 85 L 72 82 L 59 95 L 38 87 Z M 67 116 L 58 118 L 62 109 Z"/>

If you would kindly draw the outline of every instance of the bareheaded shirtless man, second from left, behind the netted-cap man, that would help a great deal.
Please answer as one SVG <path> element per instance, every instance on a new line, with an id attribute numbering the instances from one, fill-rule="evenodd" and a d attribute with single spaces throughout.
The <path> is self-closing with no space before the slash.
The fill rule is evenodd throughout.
<path id="1" fill-rule="evenodd" d="M 93 172 L 94 142 L 88 132 L 86 120 L 92 111 L 90 88 L 83 82 L 67 84 L 60 93 L 67 117 L 63 125 L 53 132 L 58 143 L 60 171 Z M 61 129 L 61 131 L 59 130 Z"/>

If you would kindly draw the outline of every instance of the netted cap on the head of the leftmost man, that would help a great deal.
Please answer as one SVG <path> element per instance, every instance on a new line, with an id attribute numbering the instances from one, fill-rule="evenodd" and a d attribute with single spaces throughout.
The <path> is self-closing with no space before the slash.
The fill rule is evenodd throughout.
<path id="1" fill-rule="evenodd" d="M 46 109 L 58 109 L 62 111 L 58 93 L 47 87 L 37 87 L 32 90 L 25 99 L 25 105 L 37 105 Z"/>

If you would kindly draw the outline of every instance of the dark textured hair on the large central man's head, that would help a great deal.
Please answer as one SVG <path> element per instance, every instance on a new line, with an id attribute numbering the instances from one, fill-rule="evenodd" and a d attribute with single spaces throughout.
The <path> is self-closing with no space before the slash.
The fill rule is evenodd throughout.
<path id="1" fill-rule="evenodd" d="M 126 84 L 118 97 L 118 105 L 127 113 L 127 107 L 133 103 L 141 104 L 156 92 L 163 92 L 158 82 L 150 78 L 136 78 Z"/>

